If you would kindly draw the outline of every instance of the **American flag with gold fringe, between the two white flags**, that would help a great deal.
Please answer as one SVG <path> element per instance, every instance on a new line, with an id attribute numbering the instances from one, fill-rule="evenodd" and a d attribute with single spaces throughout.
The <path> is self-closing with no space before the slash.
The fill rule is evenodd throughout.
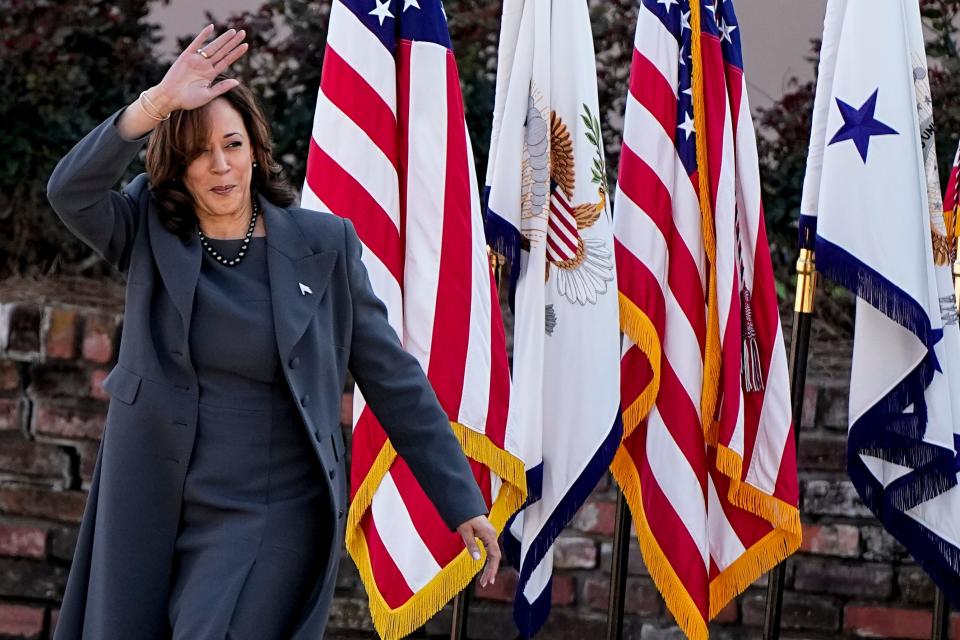
<path id="1" fill-rule="evenodd" d="M 614 232 L 625 437 L 612 469 L 668 608 L 706 638 L 707 621 L 800 544 L 732 0 L 642 0 Z"/>

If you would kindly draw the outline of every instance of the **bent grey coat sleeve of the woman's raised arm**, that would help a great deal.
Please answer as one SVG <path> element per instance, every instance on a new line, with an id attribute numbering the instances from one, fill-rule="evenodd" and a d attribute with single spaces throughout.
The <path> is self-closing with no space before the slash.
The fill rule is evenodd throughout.
<path id="1" fill-rule="evenodd" d="M 47 182 L 47 199 L 74 235 L 126 271 L 147 180 L 139 176 L 123 191 L 112 189 L 146 137 L 124 140 L 114 124 L 118 116 L 110 116 L 57 163 Z"/>

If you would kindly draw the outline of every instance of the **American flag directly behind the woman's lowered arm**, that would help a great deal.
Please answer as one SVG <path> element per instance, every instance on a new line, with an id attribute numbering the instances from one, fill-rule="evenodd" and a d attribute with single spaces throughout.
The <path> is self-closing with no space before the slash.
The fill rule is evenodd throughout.
<path id="1" fill-rule="evenodd" d="M 334 0 L 303 206 L 349 218 L 498 530 L 525 499 L 510 378 L 457 65 L 439 0 Z M 347 547 L 381 636 L 422 625 L 477 569 L 354 395 Z M 386 419 L 386 417 L 381 416 Z"/>

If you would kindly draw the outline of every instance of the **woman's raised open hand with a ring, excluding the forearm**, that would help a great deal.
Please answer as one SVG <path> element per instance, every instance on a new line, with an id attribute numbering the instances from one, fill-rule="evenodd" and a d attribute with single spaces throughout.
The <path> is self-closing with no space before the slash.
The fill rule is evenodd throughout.
<path id="1" fill-rule="evenodd" d="M 211 34 L 212 24 L 197 34 L 167 70 L 160 84 L 151 90 L 151 93 L 157 92 L 156 98 L 151 95 L 151 99 L 165 101 L 171 110 L 196 109 L 240 84 L 239 80 L 233 79 L 214 84 L 214 80 L 246 53 L 249 46 L 243 41 L 246 32 L 229 29 L 204 45 Z"/>

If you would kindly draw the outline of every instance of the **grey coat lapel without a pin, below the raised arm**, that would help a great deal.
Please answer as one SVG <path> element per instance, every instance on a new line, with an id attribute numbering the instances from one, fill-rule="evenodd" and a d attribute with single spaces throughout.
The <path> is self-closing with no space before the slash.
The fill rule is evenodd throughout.
<path id="1" fill-rule="evenodd" d="M 202 259 L 200 242 L 195 232 L 190 240 L 185 242 L 164 228 L 156 211 L 153 210 L 152 200 L 150 209 L 147 224 L 150 230 L 153 259 L 160 271 L 163 284 L 173 300 L 173 305 L 180 312 L 184 334 L 189 335 L 193 294 L 197 288 L 197 278 L 200 277 Z"/>

